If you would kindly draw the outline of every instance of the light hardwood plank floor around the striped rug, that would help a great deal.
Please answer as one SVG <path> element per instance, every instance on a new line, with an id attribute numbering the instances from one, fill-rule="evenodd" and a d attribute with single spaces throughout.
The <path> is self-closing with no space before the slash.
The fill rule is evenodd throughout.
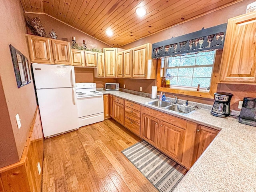
<path id="1" fill-rule="evenodd" d="M 158 192 L 121 150 L 141 138 L 112 119 L 44 141 L 43 192 Z"/>

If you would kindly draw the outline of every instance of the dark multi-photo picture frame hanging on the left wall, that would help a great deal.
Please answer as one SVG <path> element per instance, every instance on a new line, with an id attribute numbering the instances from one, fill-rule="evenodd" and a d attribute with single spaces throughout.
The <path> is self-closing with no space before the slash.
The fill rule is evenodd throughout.
<path id="1" fill-rule="evenodd" d="M 17 86 L 20 88 L 32 81 L 29 68 L 30 64 L 28 58 L 26 58 L 19 50 L 17 50 L 12 45 L 9 46 L 12 55 L 12 63 L 16 76 Z"/>

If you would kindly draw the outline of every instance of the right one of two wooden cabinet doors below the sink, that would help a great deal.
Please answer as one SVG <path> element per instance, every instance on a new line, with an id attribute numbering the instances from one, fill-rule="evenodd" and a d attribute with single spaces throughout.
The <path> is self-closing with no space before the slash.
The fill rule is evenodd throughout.
<path id="1" fill-rule="evenodd" d="M 160 121 L 158 148 L 181 162 L 186 130 Z"/>

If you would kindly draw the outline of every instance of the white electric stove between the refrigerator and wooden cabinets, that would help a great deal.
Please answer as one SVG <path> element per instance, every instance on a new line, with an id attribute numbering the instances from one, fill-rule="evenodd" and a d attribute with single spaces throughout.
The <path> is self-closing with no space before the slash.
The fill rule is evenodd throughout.
<path id="1" fill-rule="evenodd" d="M 104 121 L 103 93 L 96 83 L 76 83 L 79 127 Z"/>

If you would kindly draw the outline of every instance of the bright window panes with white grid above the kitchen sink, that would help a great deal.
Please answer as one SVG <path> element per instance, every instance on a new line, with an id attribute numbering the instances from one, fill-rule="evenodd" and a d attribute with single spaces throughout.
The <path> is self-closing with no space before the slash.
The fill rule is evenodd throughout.
<path id="1" fill-rule="evenodd" d="M 200 89 L 207 88 L 211 82 L 214 56 L 215 51 L 209 51 L 165 58 L 162 60 L 165 65 L 164 76 L 172 76 L 170 85 L 173 88 L 182 86 L 196 89 L 198 84 Z"/>

